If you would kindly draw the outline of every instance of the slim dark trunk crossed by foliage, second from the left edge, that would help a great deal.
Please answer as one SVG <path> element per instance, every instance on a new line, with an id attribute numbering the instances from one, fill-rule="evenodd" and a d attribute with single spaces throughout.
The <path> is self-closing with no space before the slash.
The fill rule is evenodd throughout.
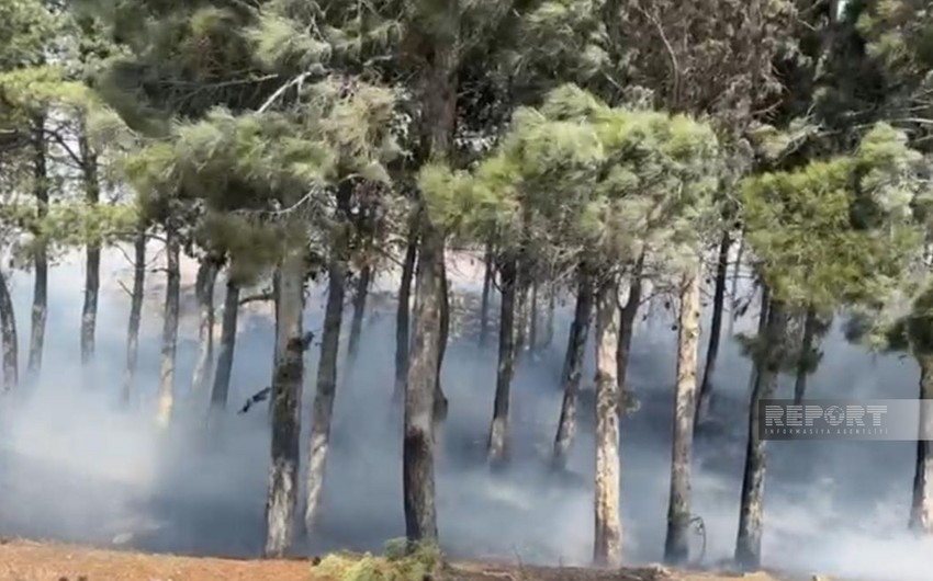
<path id="1" fill-rule="evenodd" d="M 36 215 L 40 219 L 48 214 L 48 172 L 46 168 L 47 146 L 45 140 L 45 116 L 33 121 L 33 189 Z M 32 379 L 42 372 L 42 354 L 45 346 L 45 321 L 48 316 L 48 246 L 42 235 L 35 241 L 35 278 L 33 281 L 32 328 L 30 330 L 30 358 L 26 371 Z"/>

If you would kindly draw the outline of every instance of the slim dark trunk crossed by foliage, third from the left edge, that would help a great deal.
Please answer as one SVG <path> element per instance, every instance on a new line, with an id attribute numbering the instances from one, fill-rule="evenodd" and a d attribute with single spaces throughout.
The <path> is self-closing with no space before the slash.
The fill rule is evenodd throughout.
<path id="1" fill-rule="evenodd" d="M 98 178 L 98 158 L 88 143 L 87 128 L 81 123 L 78 132 L 78 147 L 81 151 L 81 172 L 85 182 L 85 195 L 88 206 L 97 207 L 100 202 L 100 180 Z M 85 265 L 85 305 L 81 309 L 81 365 L 87 366 L 94 355 L 94 334 L 98 322 L 98 296 L 100 294 L 100 240 L 88 241 Z"/>

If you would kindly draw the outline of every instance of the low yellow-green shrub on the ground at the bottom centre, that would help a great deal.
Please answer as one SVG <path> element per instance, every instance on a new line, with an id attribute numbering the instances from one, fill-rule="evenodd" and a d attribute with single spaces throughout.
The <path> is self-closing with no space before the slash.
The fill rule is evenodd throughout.
<path id="1" fill-rule="evenodd" d="M 314 573 L 331 581 L 425 581 L 442 563 L 436 545 L 418 544 L 409 550 L 405 539 L 393 539 L 386 543 L 384 556 L 335 552 L 322 559 Z"/>

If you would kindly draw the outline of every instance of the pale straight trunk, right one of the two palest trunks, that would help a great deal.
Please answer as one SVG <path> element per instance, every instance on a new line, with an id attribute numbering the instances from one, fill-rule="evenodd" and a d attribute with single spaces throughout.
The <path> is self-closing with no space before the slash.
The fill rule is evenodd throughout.
<path id="1" fill-rule="evenodd" d="M 681 282 L 681 317 L 677 326 L 677 386 L 674 395 L 674 438 L 671 451 L 671 495 L 667 504 L 667 539 L 664 560 L 684 565 L 689 559 L 690 459 L 694 443 L 694 406 L 699 352 L 700 267 Z"/>

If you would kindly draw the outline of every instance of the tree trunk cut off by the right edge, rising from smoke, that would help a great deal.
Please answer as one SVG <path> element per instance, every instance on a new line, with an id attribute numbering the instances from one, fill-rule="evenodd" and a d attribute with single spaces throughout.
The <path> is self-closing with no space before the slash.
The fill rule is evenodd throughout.
<path id="1" fill-rule="evenodd" d="M 917 355 L 920 364 L 920 424 L 917 441 L 917 466 L 913 474 L 913 498 L 910 504 L 909 527 L 930 535 L 933 533 L 933 414 L 929 401 L 933 399 L 933 356 Z"/>

